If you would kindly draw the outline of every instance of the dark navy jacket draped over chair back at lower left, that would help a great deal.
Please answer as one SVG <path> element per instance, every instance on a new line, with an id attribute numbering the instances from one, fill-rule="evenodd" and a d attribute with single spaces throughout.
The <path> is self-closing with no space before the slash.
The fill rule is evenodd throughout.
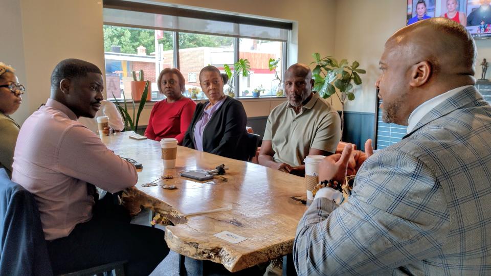
<path id="1" fill-rule="evenodd" d="M 0 275 L 53 275 L 34 197 L 0 170 Z"/>

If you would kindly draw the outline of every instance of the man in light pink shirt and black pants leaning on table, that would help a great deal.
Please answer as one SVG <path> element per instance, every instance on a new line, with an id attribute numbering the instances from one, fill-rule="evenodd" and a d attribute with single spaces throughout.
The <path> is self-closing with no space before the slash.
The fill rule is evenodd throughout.
<path id="1" fill-rule="evenodd" d="M 94 185 L 115 193 L 138 180 L 133 165 L 77 121 L 94 118 L 102 90 L 96 65 L 58 63 L 51 98 L 20 129 L 12 180 L 35 196 L 55 274 L 125 260 L 128 275 L 148 275 L 169 251 L 164 232 L 129 224 L 108 196 L 95 203 Z"/>

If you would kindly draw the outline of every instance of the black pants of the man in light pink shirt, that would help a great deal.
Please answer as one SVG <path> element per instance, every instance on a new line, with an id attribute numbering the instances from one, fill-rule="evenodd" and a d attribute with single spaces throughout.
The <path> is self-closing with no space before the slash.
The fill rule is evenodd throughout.
<path id="1" fill-rule="evenodd" d="M 129 220 L 127 211 L 114 205 L 110 196 L 99 200 L 90 221 L 77 224 L 68 237 L 48 242 L 53 272 L 128 261 L 126 275 L 150 274 L 169 253 L 164 232 Z"/>

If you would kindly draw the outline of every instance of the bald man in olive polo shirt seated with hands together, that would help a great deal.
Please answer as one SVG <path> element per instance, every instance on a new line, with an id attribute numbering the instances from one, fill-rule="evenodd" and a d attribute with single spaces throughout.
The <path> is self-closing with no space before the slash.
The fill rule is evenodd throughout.
<path id="1" fill-rule="evenodd" d="M 294 64 L 285 72 L 287 101 L 267 118 L 259 164 L 303 176 L 307 155 L 330 155 L 341 140 L 341 119 L 317 93 L 312 71 Z"/>

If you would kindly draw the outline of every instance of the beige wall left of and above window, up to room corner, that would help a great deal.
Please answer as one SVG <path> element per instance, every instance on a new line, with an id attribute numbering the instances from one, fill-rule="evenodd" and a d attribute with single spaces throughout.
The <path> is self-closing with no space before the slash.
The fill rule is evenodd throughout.
<path id="1" fill-rule="evenodd" d="M 14 44 L 1 43 L 0 52 L 12 53 L 4 59 L 19 70 L 20 81 L 28 91 L 24 103 L 15 114 L 22 123 L 50 96 L 50 75 L 53 67 L 65 58 L 80 58 L 104 69 L 101 0 L 4 0 L 0 17 L 11 18 Z M 335 0 L 307 0 L 302 9 L 296 0 L 249 0 L 237 1 L 168 1 L 207 9 L 256 14 L 296 21 L 298 39 L 298 61 L 308 63 L 311 54 L 327 55 L 334 51 Z M 258 8 L 260 7 L 260 8 Z M 10 15 L 9 15 L 10 14 Z M 320 28 L 323 28 L 322 30 Z M 7 29 L 7 28 L 3 28 Z M 293 41 L 294 43 L 296 41 Z M 294 45 L 295 47 L 295 45 Z M 25 70 L 24 70 L 25 68 Z M 266 105 L 274 105 L 268 103 Z M 270 108 L 257 108 L 265 103 L 244 104 L 250 117 L 267 116 Z M 146 122 L 150 107 L 145 108 L 142 122 Z M 148 113 L 148 114 L 147 114 Z"/>

